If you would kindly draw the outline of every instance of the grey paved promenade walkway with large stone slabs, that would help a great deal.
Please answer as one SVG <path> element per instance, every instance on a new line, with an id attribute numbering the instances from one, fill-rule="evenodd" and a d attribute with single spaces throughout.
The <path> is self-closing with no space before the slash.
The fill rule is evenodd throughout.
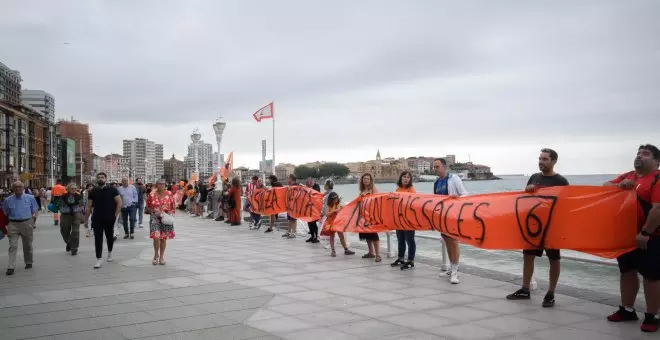
<path id="1" fill-rule="evenodd" d="M 613 308 L 542 295 L 510 302 L 511 283 L 463 274 L 460 285 L 417 263 L 392 269 L 320 244 L 177 217 L 166 266 L 152 266 L 146 230 L 120 240 L 115 262 L 92 268 L 93 241 L 64 252 L 43 218 L 35 264 L 0 277 L 0 338 L 10 339 L 642 339 L 612 325 Z M 52 222 L 51 222 L 52 223 Z M 0 264 L 7 261 L 0 242 Z M 19 249 L 19 253 L 21 250 Z M 650 335 L 651 337 L 653 335 Z"/>

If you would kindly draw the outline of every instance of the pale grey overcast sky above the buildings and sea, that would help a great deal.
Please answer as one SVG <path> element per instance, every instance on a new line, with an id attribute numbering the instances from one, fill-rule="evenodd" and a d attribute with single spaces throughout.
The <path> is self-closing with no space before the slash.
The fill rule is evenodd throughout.
<path id="1" fill-rule="evenodd" d="M 660 144 L 660 1 L 0 0 L 0 61 L 90 124 L 182 158 L 227 121 L 222 152 L 276 161 L 456 154 L 496 174 L 628 170 Z"/>

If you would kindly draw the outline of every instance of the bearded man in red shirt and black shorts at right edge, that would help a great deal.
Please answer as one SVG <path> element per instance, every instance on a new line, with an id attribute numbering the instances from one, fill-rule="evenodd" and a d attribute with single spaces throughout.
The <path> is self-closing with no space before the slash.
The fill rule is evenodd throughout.
<path id="1" fill-rule="evenodd" d="M 635 297 L 639 291 L 639 272 L 644 278 L 646 313 L 641 329 L 656 332 L 660 325 L 660 150 L 651 144 L 641 145 L 635 157 L 635 170 L 605 185 L 618 186 L 637 193 L 637 247 L 617 258 L 621 272 L 621 306 L 607 317 L 611 322 L 639 320 Z"/>

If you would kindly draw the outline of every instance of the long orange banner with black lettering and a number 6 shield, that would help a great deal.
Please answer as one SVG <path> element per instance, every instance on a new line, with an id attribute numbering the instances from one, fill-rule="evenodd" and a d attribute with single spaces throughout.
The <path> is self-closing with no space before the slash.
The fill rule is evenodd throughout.
<path id="1" fill-rule="evenodd" d="M 635 248 L 636 209 L 634 192 L 611 187 L 457 198 L 386 193 L 355 199 L 329 225 L 342 232 L 435 230 L 485 249 L 571 249 L 615 258 Z"/>

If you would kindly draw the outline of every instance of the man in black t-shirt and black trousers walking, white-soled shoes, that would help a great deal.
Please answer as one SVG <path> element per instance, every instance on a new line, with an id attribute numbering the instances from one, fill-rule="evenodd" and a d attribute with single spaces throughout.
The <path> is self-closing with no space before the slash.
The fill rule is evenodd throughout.
<path id="1" fill-rule="evenodd" d="M 90 193 L 87 201 L 85 223 L 92 216 L 92 229 L 94 229 L 94 249 L 96 250 L 96 264 L 94 268 L 101 268 L 103 264 L 103 234 L 108 244 L 107 261 L 112 262 L 112 246 L 114 245 L 115 221 L 121 212 L 121 195 L 117 188 L 106 185 L 107 175 L 99 172 L 96 175 L 98 186 Z"/>

